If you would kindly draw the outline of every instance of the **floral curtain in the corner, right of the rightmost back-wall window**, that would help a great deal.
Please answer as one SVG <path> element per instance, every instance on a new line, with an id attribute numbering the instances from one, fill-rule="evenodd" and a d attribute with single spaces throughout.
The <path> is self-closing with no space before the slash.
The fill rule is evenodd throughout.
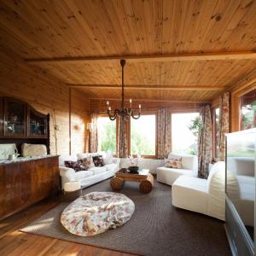
<path id="1" fill-rule="evenodd" d="M 200 108 L 202 119 L 198 136 L 198 177 L 207 178 L 212 162 L 212 118 L 209 105 Z"/>

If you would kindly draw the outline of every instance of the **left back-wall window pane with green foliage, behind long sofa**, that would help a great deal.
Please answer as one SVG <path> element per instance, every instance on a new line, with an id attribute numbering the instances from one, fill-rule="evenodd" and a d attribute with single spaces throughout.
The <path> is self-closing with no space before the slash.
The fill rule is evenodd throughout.
<path id="1" fill-rule="evenodd" d="M 98 150 L 116 153 L 116 121 L 108 117 L 99 117 L 98 129 Z"/>

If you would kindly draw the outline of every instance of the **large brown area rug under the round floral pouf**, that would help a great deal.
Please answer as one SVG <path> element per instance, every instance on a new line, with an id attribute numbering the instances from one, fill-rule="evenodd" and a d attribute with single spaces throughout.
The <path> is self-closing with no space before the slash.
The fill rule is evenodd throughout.
<path id="1" fill-rule="evenodd" d="M 154 184 L 151 193 L 143 194 L 138 183 L 125 183 L 120 192 L 134 201 L 135 212 L 115 230 L 90 237 L 69 234 L 59 221 L 67 207 L 61 203 L 21 231 L 148 256 L 231 255 L 223 222 L 172 207 L 172 188 Z M 112 191 L 109 180 L 84 189 L 83 194 L 92 191 Z"/>

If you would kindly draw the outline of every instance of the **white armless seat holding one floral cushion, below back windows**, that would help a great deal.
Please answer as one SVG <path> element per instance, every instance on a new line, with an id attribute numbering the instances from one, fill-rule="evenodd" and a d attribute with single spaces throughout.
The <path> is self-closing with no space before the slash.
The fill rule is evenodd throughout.
<path id="1" fill-rule="evenodd" d="M 168 155 L 168 159 L 179 158 L 179 157 L 182 158 L 182 169 L 169 168 L 166 166 L 161 166 L 157 168 L 156 175 L 157 175 L 158 182 L 172 185 L 172 183 L 176 181 L 177 177 L 180 177 L 182 175 L 189 176 L 189 177 L 197 176 L 197 172 L 198 172 L 197 156 L 192 154 L 173 154 L 173 153 L 170 153 Z"/>

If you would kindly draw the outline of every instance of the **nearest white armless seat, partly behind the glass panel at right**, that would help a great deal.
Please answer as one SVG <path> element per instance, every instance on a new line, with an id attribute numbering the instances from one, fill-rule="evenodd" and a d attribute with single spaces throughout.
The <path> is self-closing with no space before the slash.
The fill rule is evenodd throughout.
<path id="1" fill-rule="evenodd" d="M 230 186 L 234 193 L 238 183 L 228 172 Z M 193 212 L 224 220 L 225 215 L 225 164 L 220 161 L 212 166 L 208 179 L 181 176 L 172 184 L 172 205 Z"/>

